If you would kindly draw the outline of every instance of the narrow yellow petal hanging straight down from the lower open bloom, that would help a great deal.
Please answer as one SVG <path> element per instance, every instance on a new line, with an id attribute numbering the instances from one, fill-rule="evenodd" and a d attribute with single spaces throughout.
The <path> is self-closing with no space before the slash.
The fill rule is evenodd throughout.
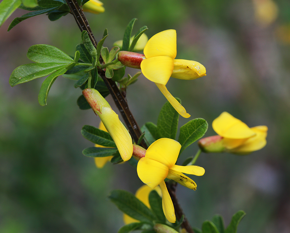
<path id="1" fill-rule="evenodd" d="M 163 209 L 164 215 L 169 222 L 175 223 L 176 217 L 175 217 L 175 212 L 174 212 L 174 206 L 173 206 L 171 197 L 168 193 L 164 180 L 160 183 L 159 186 L 162 191 L 162 209 Z"/>

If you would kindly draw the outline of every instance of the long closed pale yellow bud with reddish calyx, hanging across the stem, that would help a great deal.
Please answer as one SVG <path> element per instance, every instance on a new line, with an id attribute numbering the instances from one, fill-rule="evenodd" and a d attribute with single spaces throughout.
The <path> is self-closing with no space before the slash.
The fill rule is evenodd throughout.
<path id="1" fill-rule="evenodd" d="M 133 153 L 133 142 L 130 133 L 119 120 L 118 115 L 104 97 L 93 88 L 83 90 L 83 95 L 91 108 L 101 118 L 110 136 L 113 138 L 124 161 L 129 160 Z"/>

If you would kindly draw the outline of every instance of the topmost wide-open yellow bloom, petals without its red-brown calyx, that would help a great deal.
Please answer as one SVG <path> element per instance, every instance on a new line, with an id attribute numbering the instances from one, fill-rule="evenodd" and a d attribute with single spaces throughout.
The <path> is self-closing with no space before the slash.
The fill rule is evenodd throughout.
<path id="1" fill-rule="evenodd" d="M 175 59 L 176 53 L 176 31 L 169 29 L 159 32 L 149 39 L 144 48 L 146 59 L 141 62 L 141 70 L 146 78 L 155 82 L 175 110 L 189 118 L 190 115 L 165 85 L 170 77 L 192 80 L 206 75 L 206 70 L 199 62 Z"/>

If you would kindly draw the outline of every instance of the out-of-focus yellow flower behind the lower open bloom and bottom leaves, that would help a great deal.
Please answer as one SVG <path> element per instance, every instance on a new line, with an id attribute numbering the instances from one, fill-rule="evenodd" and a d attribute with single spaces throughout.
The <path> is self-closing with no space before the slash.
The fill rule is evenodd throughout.
<path id="1" fill-rule="evenodd" d="M 152 190 L 155 190 L 160 196 L 162 196 L 162 192 L 159 186 L 155 187 L 154 189 L 151 189 L 148 185 L 143 185 L 139 189 L 137 189 L 135 196 L 144 203 L 148 208 L 150 208 L 149 204 L 149 194 Z M 135 218 L 131 218 L 127 214 L 123 215 L 123 220 L 125 224 L 129 223 L 136 223 L 139 222 L 139 220 Z"/>

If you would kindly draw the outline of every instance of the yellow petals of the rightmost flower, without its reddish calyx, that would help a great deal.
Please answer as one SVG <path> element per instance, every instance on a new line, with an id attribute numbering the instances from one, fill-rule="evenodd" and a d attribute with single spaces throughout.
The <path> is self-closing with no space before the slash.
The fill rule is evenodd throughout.
<path id="1" fill-rule="evenodd" d="M 222 137 L 226 150 L 232 153 L 250 153 L 262 149 L 267 143 L 267 126 L 249 128 L 227 112 L 213 121 L 213 130 Z"/>

